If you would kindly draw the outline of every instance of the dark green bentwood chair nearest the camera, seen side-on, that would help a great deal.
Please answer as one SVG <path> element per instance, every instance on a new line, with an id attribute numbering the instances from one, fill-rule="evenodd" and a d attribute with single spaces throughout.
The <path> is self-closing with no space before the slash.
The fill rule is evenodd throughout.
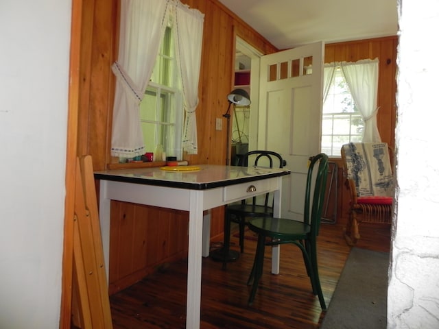
<path id="1" fill-rule="evenodd" d="M 305 191 L 305 211 L 302 221 L 292 219 L 258 217 L 250 219 L 248 228 L 258 234 L 256 255 L 250 278 L 247 284 L 252 284 L 248 304 L 254 301 L 259 279 L 262 276 L 263 258 L 265 245 L 281 245 L 293 243 L 302 251 L 307 274 L 311 279 L 311 287 L 314 295 L 318 295 L 322 310 L 327 306 L 324 302 L 322 287 L 318 277 L 317 245 L 316 240 L 320 228 L 324 192 L 327 186 L 328 157 L 326 154 L 318 154 L 311 158 L 307 174 Z M 316 175 L 313 180 L 313 175 Z"/>

